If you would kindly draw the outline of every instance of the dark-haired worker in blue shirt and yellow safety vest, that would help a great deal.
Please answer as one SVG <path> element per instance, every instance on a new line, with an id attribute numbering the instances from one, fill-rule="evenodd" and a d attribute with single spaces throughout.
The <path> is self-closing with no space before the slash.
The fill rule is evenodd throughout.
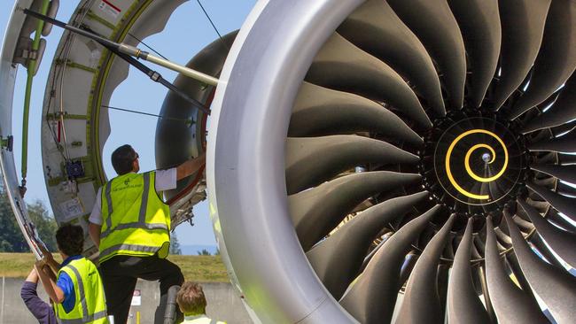
<path id="1" fill-rule="evenodd" d="M 56 281 L 51 278 L 51 270 L 45 267 L 54 267 L 56 263 L 51 253 L 44 253 L 44 258 L 36 262 L 35 266 L 46 293 L 53 301 L 58 323 L 108 323 L 100 274 L 92 261 L 82 257 L 82 228 L 70 224 L 58 228 L 56 243 L 64 260 L 59 265 Z"/>

